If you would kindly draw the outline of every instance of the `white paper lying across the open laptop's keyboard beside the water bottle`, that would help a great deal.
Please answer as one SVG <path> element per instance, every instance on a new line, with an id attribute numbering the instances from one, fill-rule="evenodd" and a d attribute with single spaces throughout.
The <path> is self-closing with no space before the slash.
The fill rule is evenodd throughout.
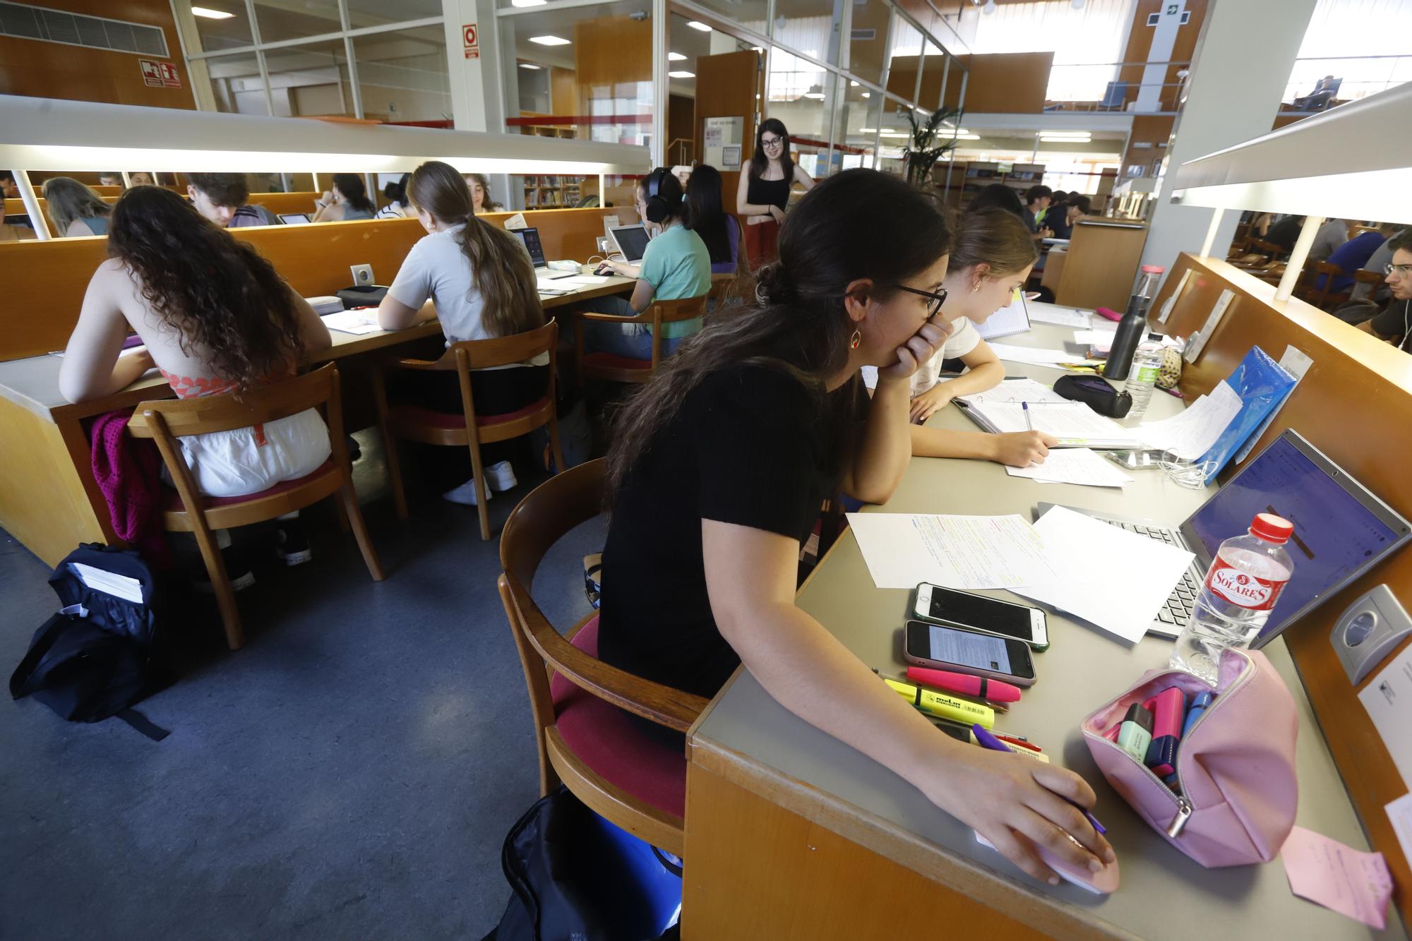
<path id="1" fill-rule="evenodd" d="M 1032 584 L 1014 592 L 1082 617 L 1128 643 L 1141 640 L 1152 626 L 1193 558 L 1186 550 L 1062 506 L 1039 517 L 1035 531 L 1055 558 L 1103 560 L 1103 564 L 1079 568 L 1063 581 Z"/>

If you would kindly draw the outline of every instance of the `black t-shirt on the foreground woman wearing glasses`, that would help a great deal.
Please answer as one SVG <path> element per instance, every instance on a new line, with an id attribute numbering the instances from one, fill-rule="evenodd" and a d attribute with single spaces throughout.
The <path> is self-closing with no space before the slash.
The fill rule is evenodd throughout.
<path id="1" fill-rule="evenodd" d="M 867 401 L 857 377 L 823 394 L 782 369 L 754 365 L 713 373 L 693 389 L 614 497 L 599 657 L 714 695 L 740 657 L 712 616 L 702 520 L 802 544 L 837 490 Z"/>

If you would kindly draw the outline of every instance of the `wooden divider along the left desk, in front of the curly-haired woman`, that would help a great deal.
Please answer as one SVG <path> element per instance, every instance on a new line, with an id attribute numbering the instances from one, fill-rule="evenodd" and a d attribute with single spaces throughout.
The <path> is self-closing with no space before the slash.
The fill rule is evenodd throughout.
<path id="1" fill-rule="evenodd" d="M 312 194 L 271 194 L 312 198 Z M 288 212 L 304 212 L 289 209 Z M 603 216 L 634 220 L 623 208 L 537 209 L 524 212 L 525 223 L 539 229 L 548 259 L 587 260 L 597 251 Z M 504 226 L 513 212 L 481 216 Z M 270 259 L 291 287 L 304 297 L 333 294 L 353 284 L 349 267 L 371 264 L 378 284 L 391 284 L 402 259 L 426 235 L 414 219 L 373 219 L 302 226 L 232 229 Z M 107 239 L 28 240 L 0 244 L 0 284 L 10 298 L 0 331 L 0 362 L 41 356 L 64 349 L 79 318 L 83 292 L 93 270 L 107 257 Z"/>

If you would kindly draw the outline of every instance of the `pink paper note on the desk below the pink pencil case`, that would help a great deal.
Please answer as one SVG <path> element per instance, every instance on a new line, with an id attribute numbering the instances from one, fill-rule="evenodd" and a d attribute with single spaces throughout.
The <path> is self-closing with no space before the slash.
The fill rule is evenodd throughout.
<path id="1" fill-rule="evenodd" d="M 1300 899 L 1374 928 L 1387 927 L 1392 875 L 1388 873 L 1382 853 L 1361 853 L 1303 827 L 1295 827 L 1289 831 L 1279 858 L 1285 860 L 1289 890 Z"/>

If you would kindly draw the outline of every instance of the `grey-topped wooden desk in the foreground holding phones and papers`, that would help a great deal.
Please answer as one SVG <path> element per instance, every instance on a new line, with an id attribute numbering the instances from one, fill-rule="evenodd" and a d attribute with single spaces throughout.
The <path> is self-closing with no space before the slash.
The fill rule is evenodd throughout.
<path id="1" fill-rule="evenodd" d="M 1066 335 L 1036 325 L 1005 342 L 1059 346 Z M 1018 363 L 1005 372 L 1043 381 L 1062 374 Z M 1158 393 L 1148 418 L 1178 408 Z M 931 422 L 974 427 L 957 408 Z M 1117 492 L 1010 478 L 988 462 L 916 458 L 881 509 L 1028 516 L 1043 500 L 1178 523 L 1204 499 L 1159 470 L 1132 476 Z M 905 670 L 901 626 L 909 603 L 911 592 L 874 586 L 851 533 L 799 592 L 799 606 L 866 664 L 894 674 Z M 1148 637 L 1128 647 L 1058 613 L 1049 615 L 1049 634 L 1051 649 L 1036 657 L 1039 681 L 997 728 L 1028 735 L 1093 784 L 1123 870 L 1118 893 L 1104 899 L 1029 879 L 918 790 L 785 711 L 741 670 L 688 736 L 682 937 L 882 938 L 919 927 L 987 938 L 1401 937 L 1395 910 L 1388 930 L 1374 933 L 1293 897 L 1279 860 L 1207 870 L 1149 829 L 1097 771 L 1079 722 L 1142 671 L 1163 665 L 1171 641 Z M 1299 711 L 1299 825 L 1365 849 L 1284 643 L 1265 653 Z"/>

